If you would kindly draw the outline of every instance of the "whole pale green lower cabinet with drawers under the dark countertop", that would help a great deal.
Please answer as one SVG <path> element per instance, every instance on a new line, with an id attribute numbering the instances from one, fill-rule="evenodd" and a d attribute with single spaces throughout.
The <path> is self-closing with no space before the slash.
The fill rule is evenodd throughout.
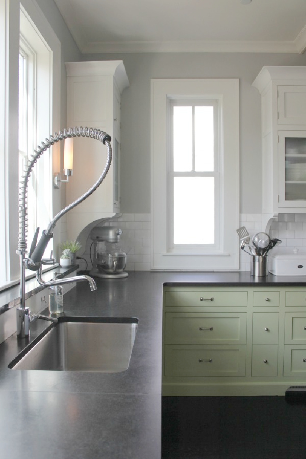
<path id="1" fill-rule="evenodd" d="M 304 285 L 163 293 L 163 395 L 284 396 L 305 383 Z"/>

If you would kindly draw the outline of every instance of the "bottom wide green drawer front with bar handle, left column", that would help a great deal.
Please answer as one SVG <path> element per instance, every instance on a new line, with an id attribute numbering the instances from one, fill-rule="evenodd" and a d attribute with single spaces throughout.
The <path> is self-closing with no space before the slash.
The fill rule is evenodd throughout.
<path id="1" fill-rule="evenodd" d="M 245 376 L 245 346 L 168 345 L 165 376 Z"/>

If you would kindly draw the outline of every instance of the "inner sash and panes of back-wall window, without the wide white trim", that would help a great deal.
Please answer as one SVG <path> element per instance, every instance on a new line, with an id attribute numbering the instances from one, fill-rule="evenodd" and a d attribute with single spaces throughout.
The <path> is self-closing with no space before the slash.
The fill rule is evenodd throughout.
<path id="1" fill-rule="evenodd" d="M 170 101 L 169 112 L 168 250 L 219 249 L 218 101 Z"/>

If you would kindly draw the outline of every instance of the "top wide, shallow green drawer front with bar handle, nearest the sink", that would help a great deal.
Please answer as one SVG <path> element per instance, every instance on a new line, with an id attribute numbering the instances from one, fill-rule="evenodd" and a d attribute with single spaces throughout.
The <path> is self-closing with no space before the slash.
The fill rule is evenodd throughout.
<path id="1" fill-rule="evenodd" d="M 246 291 L 166 291 L 165 306 L 247 306 Z"/>

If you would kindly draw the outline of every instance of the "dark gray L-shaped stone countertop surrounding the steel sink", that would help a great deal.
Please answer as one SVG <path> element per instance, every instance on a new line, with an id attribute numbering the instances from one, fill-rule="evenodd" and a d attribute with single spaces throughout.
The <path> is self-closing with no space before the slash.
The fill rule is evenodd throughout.
<path id="1" fill-rule="evenodd" d="M 0 345 L 0 457 L 10 459 L 160 459 L 162 286 L 292 285 L 305 278 L 250 273 L 132 272 L 124 279 L 79 282 L 64 296 L 66 315 L 138 317 L 130 365 L 121 373 L 11 370 L 25 346 Z M 49 324 L 31 325 L 31 339 Z M 3 456 L 1 456 L 1 454 Z"/>

